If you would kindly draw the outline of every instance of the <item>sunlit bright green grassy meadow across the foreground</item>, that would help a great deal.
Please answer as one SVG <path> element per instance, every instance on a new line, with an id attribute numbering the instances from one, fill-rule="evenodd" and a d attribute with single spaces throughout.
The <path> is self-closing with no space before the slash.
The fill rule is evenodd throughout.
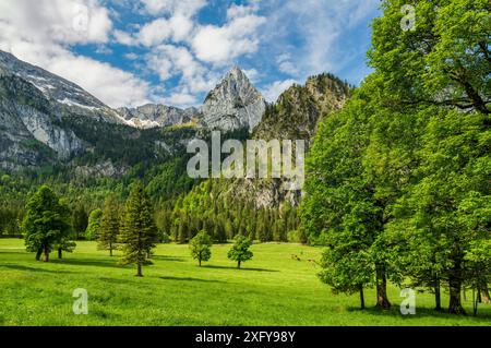
<path id="1" fill-rule="evenodd" d="M 77 242 L 74 253 L 36 262 L 19 239 L 0 239 L 1 325 L 491 325 L 491 305 L 479 315 L 434 313 L 431 295 L 418 293 L 416 315 L 403 316 L 399 289 L 390 288 L 391 311 L 366 311 L 358 296 L 333 295 L 318 278 L 319 248 L 254 244 L 242 269 L 214 245 L 212 260 L 199 267 L 188 245 L 160 244 L 144 277 L 117 265 L 117 256 Z M 301 261 L 291 259 L 297 254 Z M 72 291 L 88 292 L 88 314 L 74 315 Z M 443 303 L 447 303 L 446 295 Z M 471 301 L 465 301 L 471 312 Z"/>

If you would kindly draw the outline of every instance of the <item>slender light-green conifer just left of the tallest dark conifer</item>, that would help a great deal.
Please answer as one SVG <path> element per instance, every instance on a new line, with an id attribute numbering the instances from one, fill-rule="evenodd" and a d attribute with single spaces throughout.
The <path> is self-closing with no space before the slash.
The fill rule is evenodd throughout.
<path id="1" fill-rule="evenodd" d="M 98 233 L 98 249 L 109 250 L 112 256 L 112 250 L 116 249 L 119 236 L 120 218 L 119 206 L 115 195 L 109 195 L 104 203 L 103 217 Z"/>

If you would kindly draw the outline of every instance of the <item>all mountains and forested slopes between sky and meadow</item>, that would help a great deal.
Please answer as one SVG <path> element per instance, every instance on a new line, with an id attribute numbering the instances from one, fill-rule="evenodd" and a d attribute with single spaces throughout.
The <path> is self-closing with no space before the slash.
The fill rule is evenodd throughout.
<path id="1" fill-rule="evenodd" d="M 43 183 L 69 197 L 74 215 L 87 216 L 108 192 L 123 200 L 130 183 L 141 180 L 164 238 L 185 242 L 206 225 L 217 241 L 236 233 L 300 241 L 300 192 L 283 190 L 280 179 L 190 179 L 185 146 L 219 130 L 223 139 L 306 140 L 309 147 L 318 121 L 340 109 L 350 91 L 320 74 L 267 104 L 232 67 L 200 107 L 112 109 L 74 83 L 0 51 L 0 230 L 19 235 L 26 200 Z"/>

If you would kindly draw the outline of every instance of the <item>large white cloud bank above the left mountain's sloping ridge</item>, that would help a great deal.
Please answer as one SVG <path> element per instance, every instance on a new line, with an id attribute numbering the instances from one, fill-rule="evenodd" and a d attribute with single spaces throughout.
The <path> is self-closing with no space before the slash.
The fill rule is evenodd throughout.
<path id="1" fill-rule="evenodd" d="M 73 81 L 109 106 L 145 103 L 147 83 L 69 49 L 72 44 L 107 43 L 111 27 L 108 11 L 96 0 L 0 2 L 0 49 Z"/>

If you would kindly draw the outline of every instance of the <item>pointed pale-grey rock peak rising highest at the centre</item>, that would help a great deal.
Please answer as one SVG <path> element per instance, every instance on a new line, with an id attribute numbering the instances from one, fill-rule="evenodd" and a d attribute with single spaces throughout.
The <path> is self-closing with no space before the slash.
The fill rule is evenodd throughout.
<path id="1" fill-rule="evenodd" d="M 246 74 L 235 67 L 206 96 L 202 124 L 208 129 L 250 132 L 261 122 L 266 103 Z"/>

